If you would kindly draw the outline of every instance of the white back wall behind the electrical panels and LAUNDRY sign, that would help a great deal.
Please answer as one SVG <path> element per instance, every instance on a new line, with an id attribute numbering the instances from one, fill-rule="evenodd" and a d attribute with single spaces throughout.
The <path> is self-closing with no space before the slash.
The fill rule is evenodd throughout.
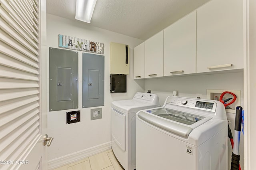
<path id="1" fill-rule="evenodd" d="M 144 91 L 144 81 L 134 81 L 132 79 L 133 48 L 140 44 L 142 40 L 88 25 L 47 14 L 48 47 L 58 48 L 58 34 L 62 34 L 104 43 L 105 56 L 105 102 L 102 107 L 102 119 L 90 121 L 90 109 L 92 108 L 82 109 L 82 51 L 78 51 L 79 108 L 48 112 L 48 136 L 54 137 L 52 145 L 48 148 L 49 162 L 53 160 L 58 162 L 58 159 L 63 159 L 68 154 L 80 152 L 100 144 L 107 143 L 110 146 L 111 102 L 120 99 L 130 99 L 137 91 Z M 130 45 L 130 75 L 127 76 L 127 93 L 110 94 L 110 42 Z M 49 52 L 46 57 L 47 63 L 49 63 Z M 48 68 L 49 65 L 47 65 L 47 70 L 49 70 Z M 47 84 L 49 84 L 49 71 Z M 47 93 L 49 97 L 49 87 Z M 66 125 L 66 112 L 75 110 L 81 111 L 81 122 Z"/>

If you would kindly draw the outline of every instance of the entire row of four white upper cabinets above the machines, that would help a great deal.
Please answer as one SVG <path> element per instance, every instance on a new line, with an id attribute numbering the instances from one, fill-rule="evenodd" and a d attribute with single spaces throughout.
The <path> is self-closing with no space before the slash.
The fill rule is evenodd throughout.
<path id="1" fill-rule="evenodd" d="M 134 79 L 243 69 L 243 0 L 211 0 L 134 48 Z"/>

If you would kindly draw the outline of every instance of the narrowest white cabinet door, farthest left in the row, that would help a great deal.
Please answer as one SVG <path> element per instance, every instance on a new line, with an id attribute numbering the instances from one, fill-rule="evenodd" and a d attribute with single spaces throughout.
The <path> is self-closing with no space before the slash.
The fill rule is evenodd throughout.
<path id="1" fill-rule="evenodd" d="M 133 49 L 133 78 L 145 78 L 145 42 Z"/>

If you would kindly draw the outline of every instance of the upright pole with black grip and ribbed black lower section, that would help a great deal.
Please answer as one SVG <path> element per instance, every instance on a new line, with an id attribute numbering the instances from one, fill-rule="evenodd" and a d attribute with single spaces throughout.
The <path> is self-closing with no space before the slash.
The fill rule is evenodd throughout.
<path id="1" fill-rule="evenodd" d="M 231 170 L 238 170 L 239 169 L 239 142 L 240 142 L 240 132 L 241 132 L 241 125 L 242 125 L 242 110 L 243 108 L 238 106 L 236 107 L 236 119 L 235 119 L 235 134 L 234 134 L 234 149 L 232 153 L 232 160 L 231 160 Z"/>

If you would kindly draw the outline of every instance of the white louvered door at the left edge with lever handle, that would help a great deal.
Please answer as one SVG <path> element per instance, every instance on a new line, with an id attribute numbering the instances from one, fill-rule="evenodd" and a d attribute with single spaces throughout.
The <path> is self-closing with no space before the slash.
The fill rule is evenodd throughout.
<path id="1" fill-rule="evenodd" d="M 40 2 L 0 0 L 0 169 L 4 170 L 43 169 Z"/>

